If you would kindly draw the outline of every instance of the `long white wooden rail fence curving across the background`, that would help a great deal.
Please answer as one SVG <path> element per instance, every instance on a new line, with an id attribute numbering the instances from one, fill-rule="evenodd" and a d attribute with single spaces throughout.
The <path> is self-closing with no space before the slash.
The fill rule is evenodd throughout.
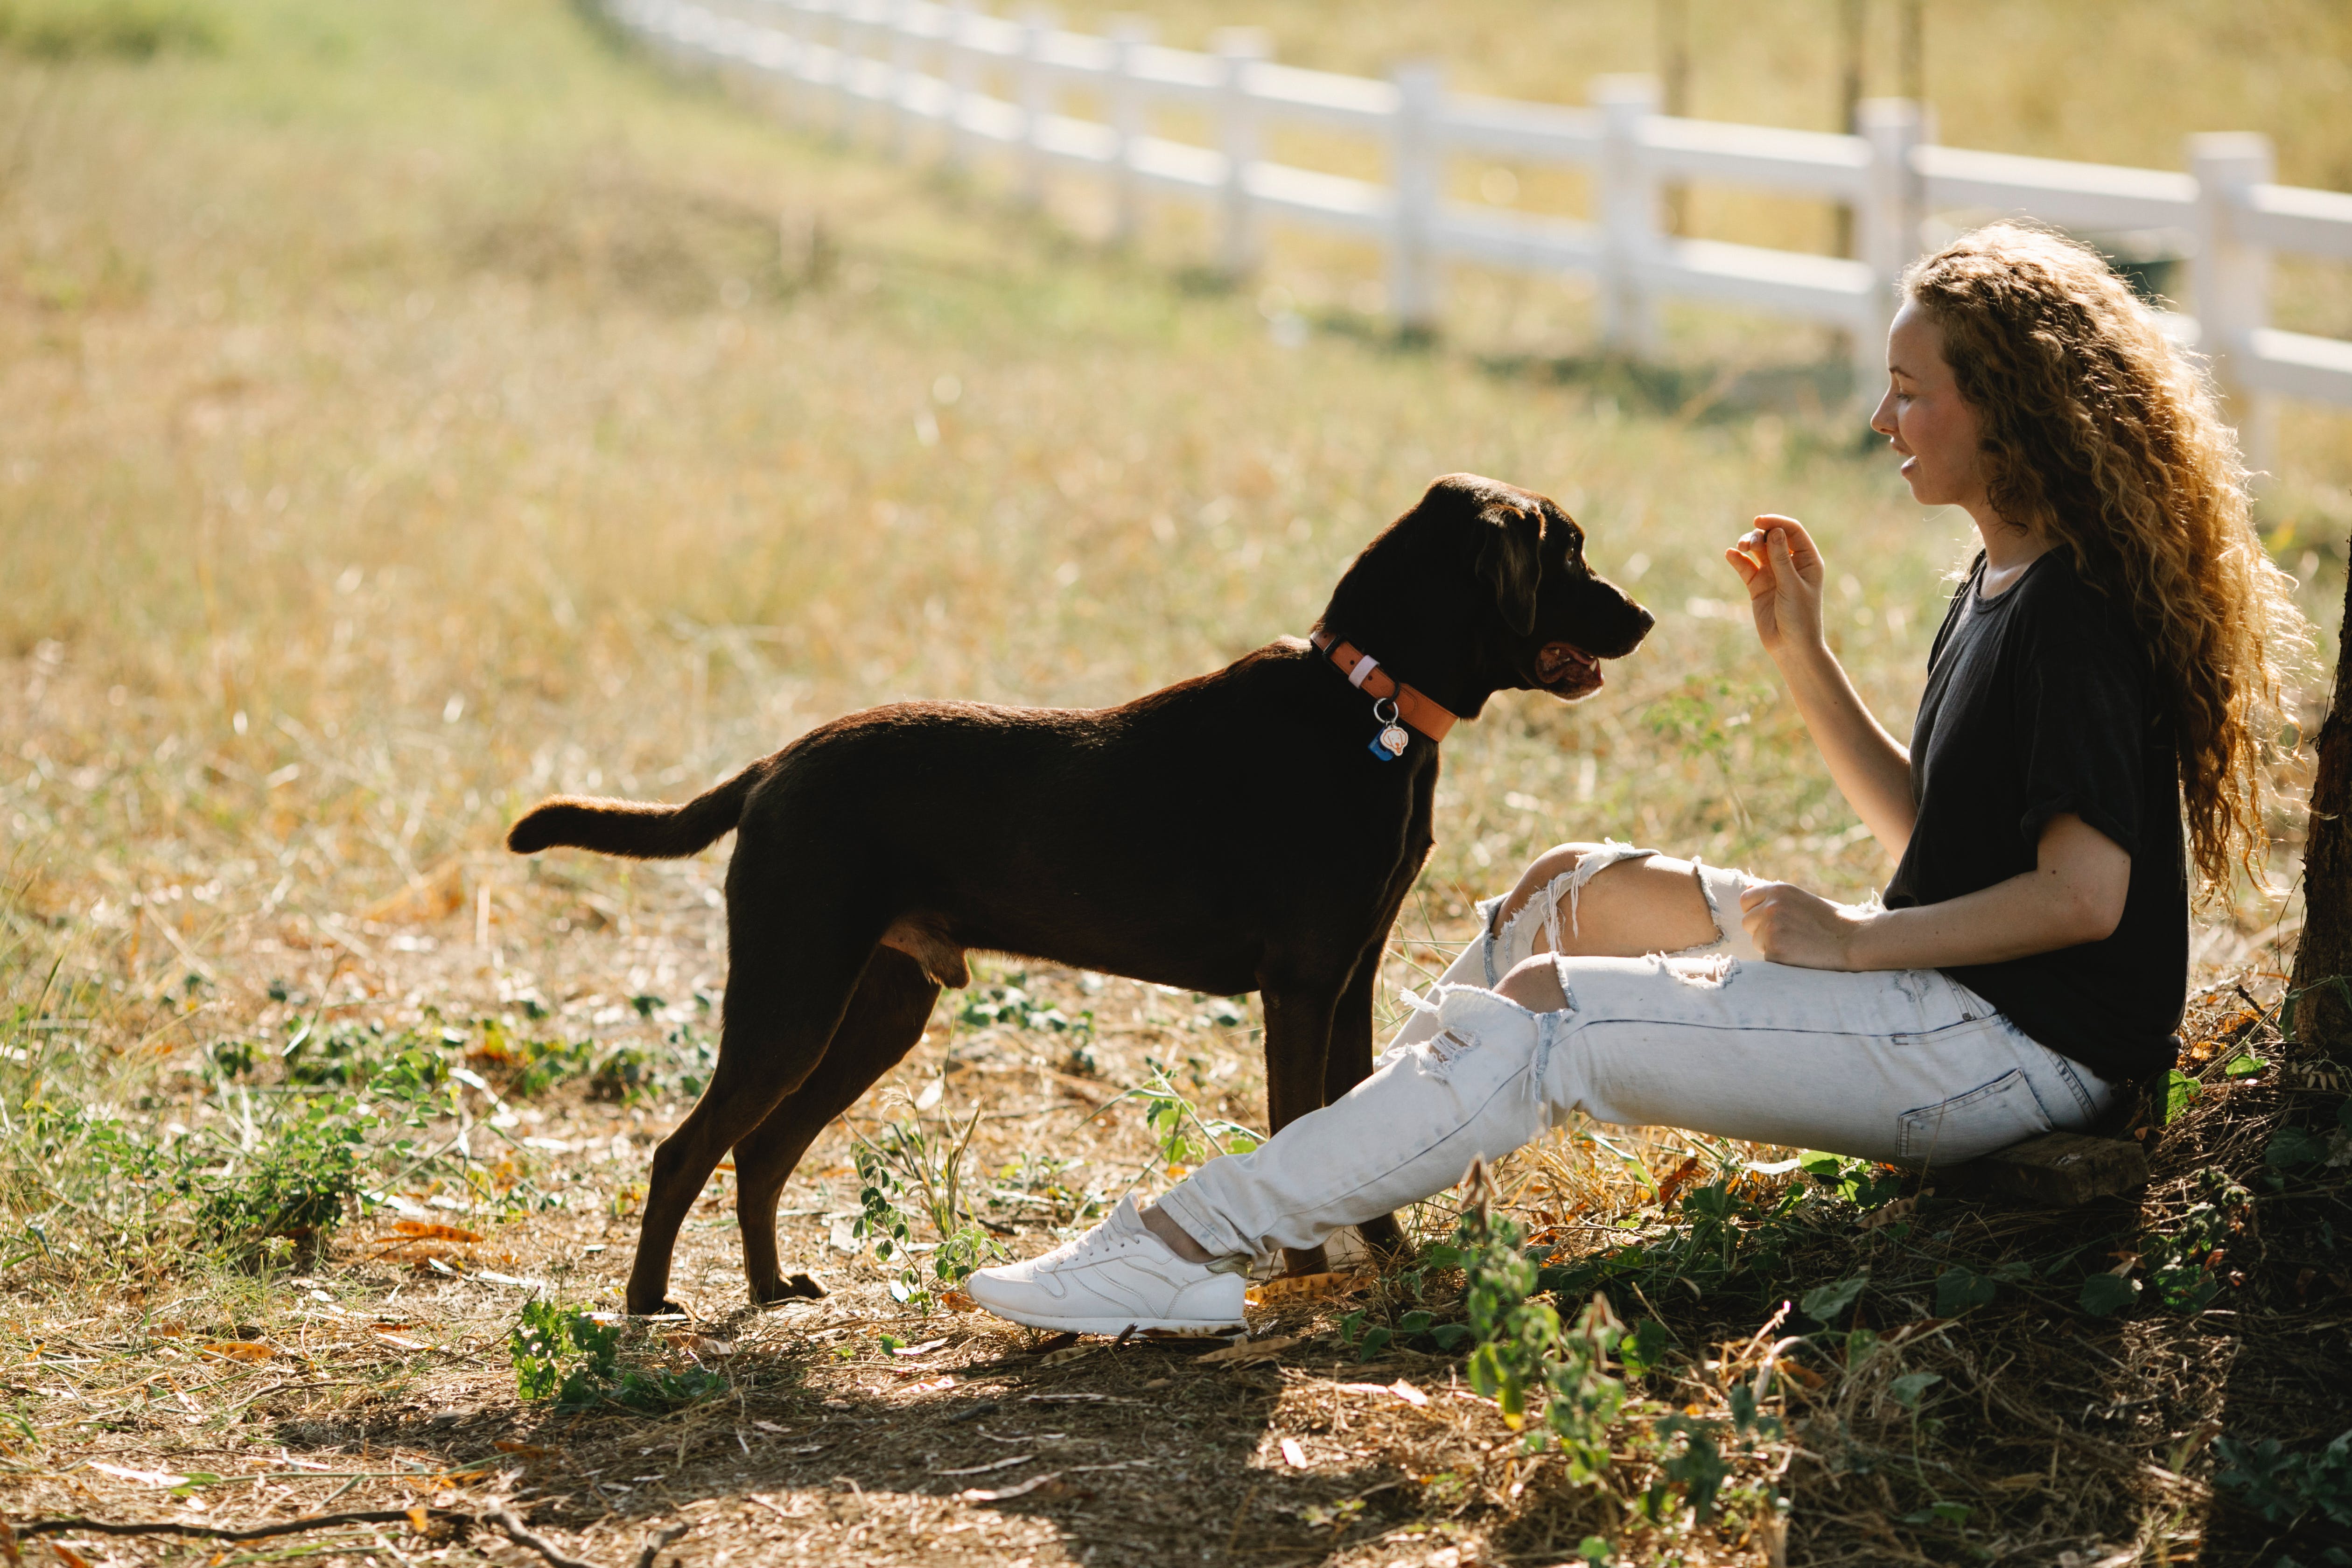
<path id="1" fill-rule="evenodd" d="M 1402 327 L 1439 315 L 1446 259 L 1529 273 L 1583 273 L 1602 294 L 1611 348 L 1656 346 L 1663 299 L 1769 310 L 1851 331 L 1863 388 L 1884 376 L 1896 277 L 1919 252 L 1931 212 L 2025 214 L 2067 230 L 2176 230 L 2192 254 L 2194 315 L 2176 336 L 2213 360 L 2241 400 L 2249 444 L 2270 395 L 2352 407 L 2352 343 L 2272 329 L 2270 254 L 2352 261 L 2352 195 L 2270 181 L 2270 143 L 2253 134 L 2190 136 L 2190 172 L 1971 153 L 1931 141 L 1919 106 L 1865 101 L 1860 134 L 1719 125 L 1658 113 L 1651 78 L 1604 75 L 1592 108 L 1446 92 L 1437 66 L 1397 66 L 1385 82 L 1301 71 L 1268 59 L 1263 33 L 1230 28 L 1209 54 L 1167 49 L 1145 24 L 1110 38 L 1042 16 L 1007 21 L 971 0 L 607 0 L 630 31 L 673 56 L 786 89 L 786 110 L 842 136 L 880 122 L 894 150 L 917 125 L 969 160 L 1004 148 L 1035 200 L 1051 165 L 1112 181 L 1115 226 L 1131 235 L 1145 193 L 1214 212 L 1218 261 L 1244 275 L 1263 223 L 1357 235 L 1388 254 L 1388 303 Z M 990 96 L 981 78 L 1011 87 Z M 1075 118 L 1082 92 L 1105 120 Z M 1150 132 L 1176 106 L 1214 127 L 1216 146 Z M 1268 125 L 1355 132 L 1385 150 L 1388 183 L 1270 162 Z M 1592 174 L 1590 221 L 1470 207 L 1444 197 L 1444 165 L 1486 155 L 1576 165 Z M 1705 181 L 1853 212 L 1856 259 L 1684 240 L 1661 226 L 1661 186 Z"/>

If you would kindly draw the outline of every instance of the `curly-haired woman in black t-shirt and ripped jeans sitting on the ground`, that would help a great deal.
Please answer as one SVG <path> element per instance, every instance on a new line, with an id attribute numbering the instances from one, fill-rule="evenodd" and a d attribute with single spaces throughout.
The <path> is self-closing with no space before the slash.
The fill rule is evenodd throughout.
<path id="1" fill-rule="evenodd" d="M 1482 905 L 1484 940 L 1348 1098 L 981 1269 L 974 1300 L 1080 1333 L 1230 1326 L 1251 1258 L 1430 1197 L 1569 1112 L 1929 1166 L 2086 1128 L 2173 1063 L 2187 863 L 2220 893 L 2263 853 L 2258 755 L 2310 628 L 2209 390 L 2093 252 L 1997 223 L 1903 294 L 1870 425 L 1980 543 L 1910 748 L 1823 642 L 1806 529 L 1759 517 L 1724 552 L 1898 860 L 1884 903 L 1564 844 Z"/>

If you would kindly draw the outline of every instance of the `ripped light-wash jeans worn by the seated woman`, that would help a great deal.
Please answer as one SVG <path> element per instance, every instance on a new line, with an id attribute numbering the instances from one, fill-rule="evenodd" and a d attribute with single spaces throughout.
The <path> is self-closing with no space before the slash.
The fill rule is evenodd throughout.
<path id="1" fill-rule="evenodd" d="M 1644 853 L 1656 851 L 1611 844 L 1585 860 Z M 1526 957 L 1555 891 L 1571 891 L 1559 882 L 1583 886 L 1590 875 L 1578 865 L 1531 900 L 1531 922 L 1522 912 L 1503 931 L 1498 900 L 1482 905 L 1489 938 L 1444 983 L 1491 987 Z M 1343 1100 L 1249 1154 L 1211 1159 L 1160 1206 L 1211 1253 L 1265 1258 L 1444 1192 L 1472 1159 L 1501 1159 L 1578 1112 L 1943 1166 L 2082 1131 L 2114 1098 L 2089 1067 L 1933 969 L 1837 973 L 1757 957 L 1736 919 L 1748 882 L 1700 867 L 1719 933 L 1705 947 L 1557 957 L 1569 1004 L 1534 1013 L 1531 1030 L 1439 1034 L 1435 1016 L 1416 1011 Z"/>

